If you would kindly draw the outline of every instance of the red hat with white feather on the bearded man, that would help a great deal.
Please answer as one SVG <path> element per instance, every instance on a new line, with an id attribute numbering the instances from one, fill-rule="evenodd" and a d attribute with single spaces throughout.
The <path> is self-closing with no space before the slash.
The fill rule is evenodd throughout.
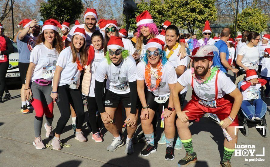
<path id="1" fill-rule="evenodd" d="M 214 52 L 218 53 L 218 48 L 214 45 L 204 45 L 204 46 L 200 46 L 197 47 L 195 49 L 193 49 L 192 51 L 192 55 L 189 56 L 192 60 L 194 60 L 195 58 L 202 58 L 204 57 L 205 59 L 212 61 L 214 55 Z"/>

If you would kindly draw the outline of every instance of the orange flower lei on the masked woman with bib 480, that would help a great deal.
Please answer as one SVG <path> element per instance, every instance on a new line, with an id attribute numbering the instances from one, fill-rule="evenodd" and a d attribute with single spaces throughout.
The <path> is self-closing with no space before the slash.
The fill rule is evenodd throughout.
<path id="1" fill-rule="evenodd" d="M 152 76 L 151 65 L 148 62 L 148 64 L 145 66 L 145 72 L 144 72 L 145 84 L 151 92 L 156 90 L 161 82 L 161 76 L 162 76 L 161 69 L 162 69 L 162 63 L 160 59 L 159 63 L 157 64 L 157 74 L 153 73 L 154 74 L 153 76 L 156 78 L 156 85 L 155 87 L 151 88 L 151 76 Z"/>

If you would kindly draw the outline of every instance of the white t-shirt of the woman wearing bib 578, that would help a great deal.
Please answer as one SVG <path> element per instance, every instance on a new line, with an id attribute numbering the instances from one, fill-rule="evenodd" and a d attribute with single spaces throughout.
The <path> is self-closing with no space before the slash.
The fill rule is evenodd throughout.
<path id="1" fill-rule="evenodd" d="M 35 69 L 32 74 L 31 81 L 44 78 L 46 80 L 52 80 L 53 77 L 43 77 L 42 71 L 43 67 L 56 66 L 58 58 L 58 52 L 55 48 L 49 49 L 43 43 L 36 45 L 31 52 L 30 62 L 35 64 Z M 45 70 L 45 69 L 44 69 Z"/>

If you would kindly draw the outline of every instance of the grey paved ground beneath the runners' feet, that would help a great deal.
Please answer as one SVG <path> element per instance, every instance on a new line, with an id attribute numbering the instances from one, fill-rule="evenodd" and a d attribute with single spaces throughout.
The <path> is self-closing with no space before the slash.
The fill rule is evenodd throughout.
<path id="1" fill-rule="evenodd" d="M 75 140 L 71 128 L 71 119 L 67 123 L 64 133 L 61 135 L 61 141 L 72 145 L 62 150 L 37 150 L 32 145 L 34 139 L 34 116 L 35 111 L 30 114 L 19 112 L 20 91 L 18 88 L 11 90 L 13 99 L 0 104 L 0 165 L 1 166 L 177 166 L 179 159 L 185 155 L 184 148 L 175 151 L 173 161 L 165 161 L 165 145 L 158 145 L 157 152 L 148 157 L 140 156 L 140 151 L 145 148 L 144 143 L 134 144 L 135 152 L 133 155 L 125 155 L 125 147 L 118 148 L 115 152 L 107 152 L 106 147 L 110 145 L 113 136 L 106 133 L 102 143 L 94 142 L 88 136 L 88 141 L 80 143 Z M 191 91 L 189 90 L 186 100 L 190 100 Z M 266 100 L 269 105 L 270 100 Z M 60 116 L 57 105 L 54 106 L 53 126 Z M 270 107 L 270 106 L 268 106 Z M 87 111 L 85 107 L 85 111 Z M 269 111 L 266 113 L 266 119 L 269 124 Z M 45 119 L 44 119 L 45 121 Z M 157 125 L 160 127 L 160 122 Z M 84 125 L 83 128 L 86 128 Z M 139 127 L 140 128 L 140 127 Z M 223 156 L 224 136 L 221 128 L 214 121 L 206 116 L 199 123 L 191 124 L 191 133 L 193 135 L 194 151 L 197 152 L 198 162 L 196 165 L 189 166 L 218 166 L 220 158 Z M 158 129 L 160 132 L 161 129 Z M 52 138 L 45 137 L 45 129 L 42 127 L 42 139 L 44 143 L 51 142 Z M 88 135 L 88 129 L 84 131 Z M 160 135 L 157 136 L 160 138 Z M 157 139 L 157 141 L 158 141 Z M 269 138 L 263 138 L 254 128 L 249 128 L 249 136 L 245 137 L 239 133 L 238 145 L 255 145 L 254 156 L 233 156 L 231 159 L 233 166 L 269 166 L 270 160 L 270 142 Z M 265 156 L 256 157 L 255 154 L 262 154 L 265 148 Z M 243 153 L 246 153 L 245 151 Z M 246 155 L 246 154 L 244 154 Z M 263 158 L 264 161 L 245 161 L 245 158 Z M 257 159 L 258 160 L 258 159 Z"/>

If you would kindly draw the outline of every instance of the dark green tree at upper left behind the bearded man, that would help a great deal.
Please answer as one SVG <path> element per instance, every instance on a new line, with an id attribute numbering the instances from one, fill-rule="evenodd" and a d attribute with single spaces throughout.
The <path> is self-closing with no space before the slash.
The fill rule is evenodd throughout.
<path id="1" fill-rule="evenodd" d="M 82 0 L 48 0 L 48 2 L 42 3 L 40 7 L 40 15 L 43 21 L 56 19 L 60 23 L 63 21 L 73 23 L 82 12 Z"/>

